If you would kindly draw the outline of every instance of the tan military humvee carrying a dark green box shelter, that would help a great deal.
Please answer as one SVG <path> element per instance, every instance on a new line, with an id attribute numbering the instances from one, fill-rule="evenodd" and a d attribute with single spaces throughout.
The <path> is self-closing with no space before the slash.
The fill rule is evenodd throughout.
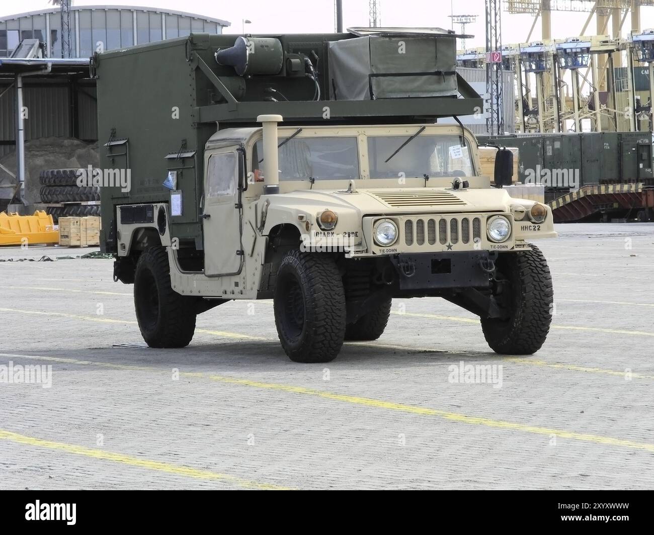
<path id="1" fill-rule="evenodd" d="M 538 351 L 553 290 L 528 240 L 556 236 L 551 210 L 502 189 L 509 150 L 491 187 L 474 135 L 439 124 L 483 105 L 456 37 L 193 34 L 97 54 L 101 247 L 148 345 L 273 299 L 286 354 L 328 362 L 381 336 L 392 298 L 438 296 L 494 351 Z"/>

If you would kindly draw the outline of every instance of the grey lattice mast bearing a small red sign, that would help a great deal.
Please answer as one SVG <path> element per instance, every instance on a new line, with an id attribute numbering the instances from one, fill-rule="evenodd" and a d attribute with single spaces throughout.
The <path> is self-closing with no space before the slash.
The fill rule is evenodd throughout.
<path id="1" fill-rule="evenodd" d="M 486 129 L 490 135 L 504 133 L 502 116 L 502 61 L 492 61 L 491 52 L 502 51 L 500 0 L 486 0 L 486 94 L 489 115 Z"/>

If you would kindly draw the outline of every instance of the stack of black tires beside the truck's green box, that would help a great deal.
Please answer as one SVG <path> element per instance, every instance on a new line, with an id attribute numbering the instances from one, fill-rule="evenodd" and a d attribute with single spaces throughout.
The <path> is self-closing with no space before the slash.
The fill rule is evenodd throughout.
<path id="1" fill-rule="evenodd" d="M 79 169 L 44 169 L 39 175 L 41 201 L 43 203 L 83 203 L 100 200 L 99 186 L 78 186 Z M 46 213 L 54 222 L 60 217 L 99 216 L 99 205 L 70 204 L 49 206 Z"/>

